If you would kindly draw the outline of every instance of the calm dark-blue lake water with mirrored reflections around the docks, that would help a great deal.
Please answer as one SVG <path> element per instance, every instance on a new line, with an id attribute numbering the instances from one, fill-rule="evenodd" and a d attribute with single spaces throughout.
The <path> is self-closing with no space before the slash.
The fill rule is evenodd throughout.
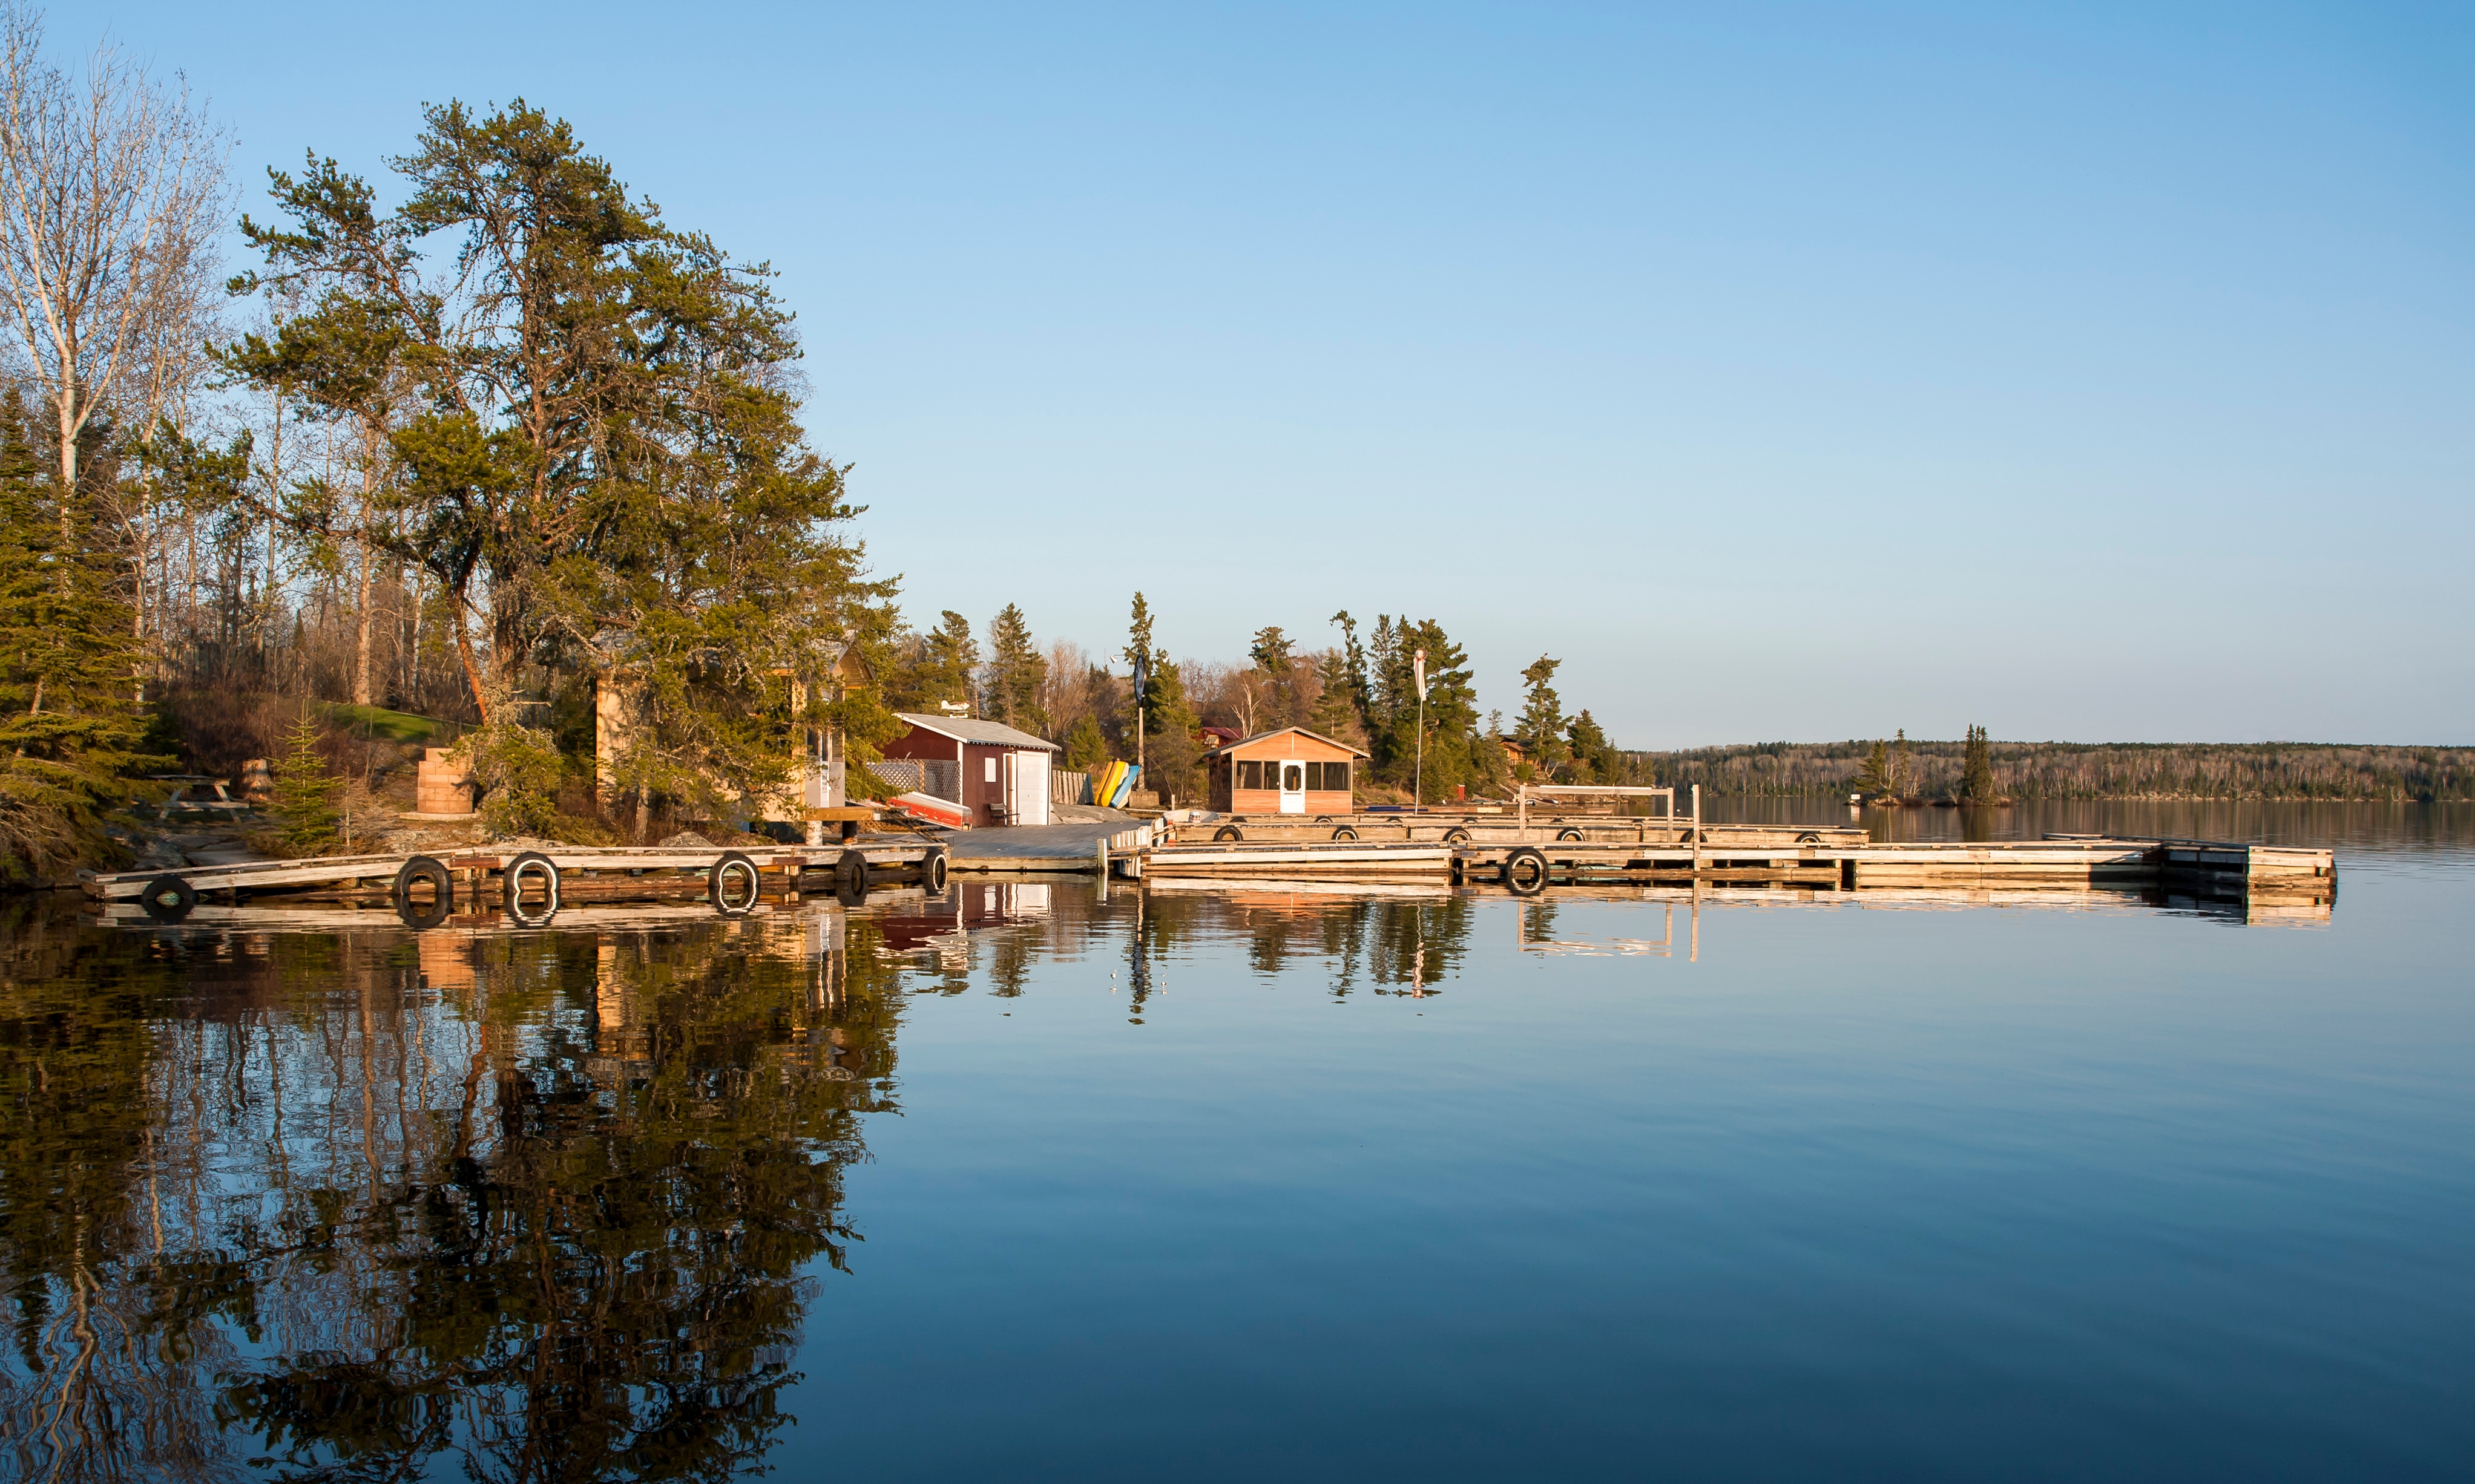
<path id="1" fill-rule="evenodd" d="M 0 903 L 0 1479 L 2463 1479 L 2475 809 L 1866 824 L 2341 888 Z"/>

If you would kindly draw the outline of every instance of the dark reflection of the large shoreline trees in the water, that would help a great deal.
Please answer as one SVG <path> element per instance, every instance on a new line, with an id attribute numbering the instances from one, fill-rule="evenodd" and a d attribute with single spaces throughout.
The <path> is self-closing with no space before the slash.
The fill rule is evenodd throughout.
<path id="1" fill-rule="evenodd" d="M 20 923 L 0 1457 L 57 1479 L 752 1464 L 809 1274 L 856 1242 L 842 1170 L 893 1071 L 889 974 L 817 932 Z"/>

